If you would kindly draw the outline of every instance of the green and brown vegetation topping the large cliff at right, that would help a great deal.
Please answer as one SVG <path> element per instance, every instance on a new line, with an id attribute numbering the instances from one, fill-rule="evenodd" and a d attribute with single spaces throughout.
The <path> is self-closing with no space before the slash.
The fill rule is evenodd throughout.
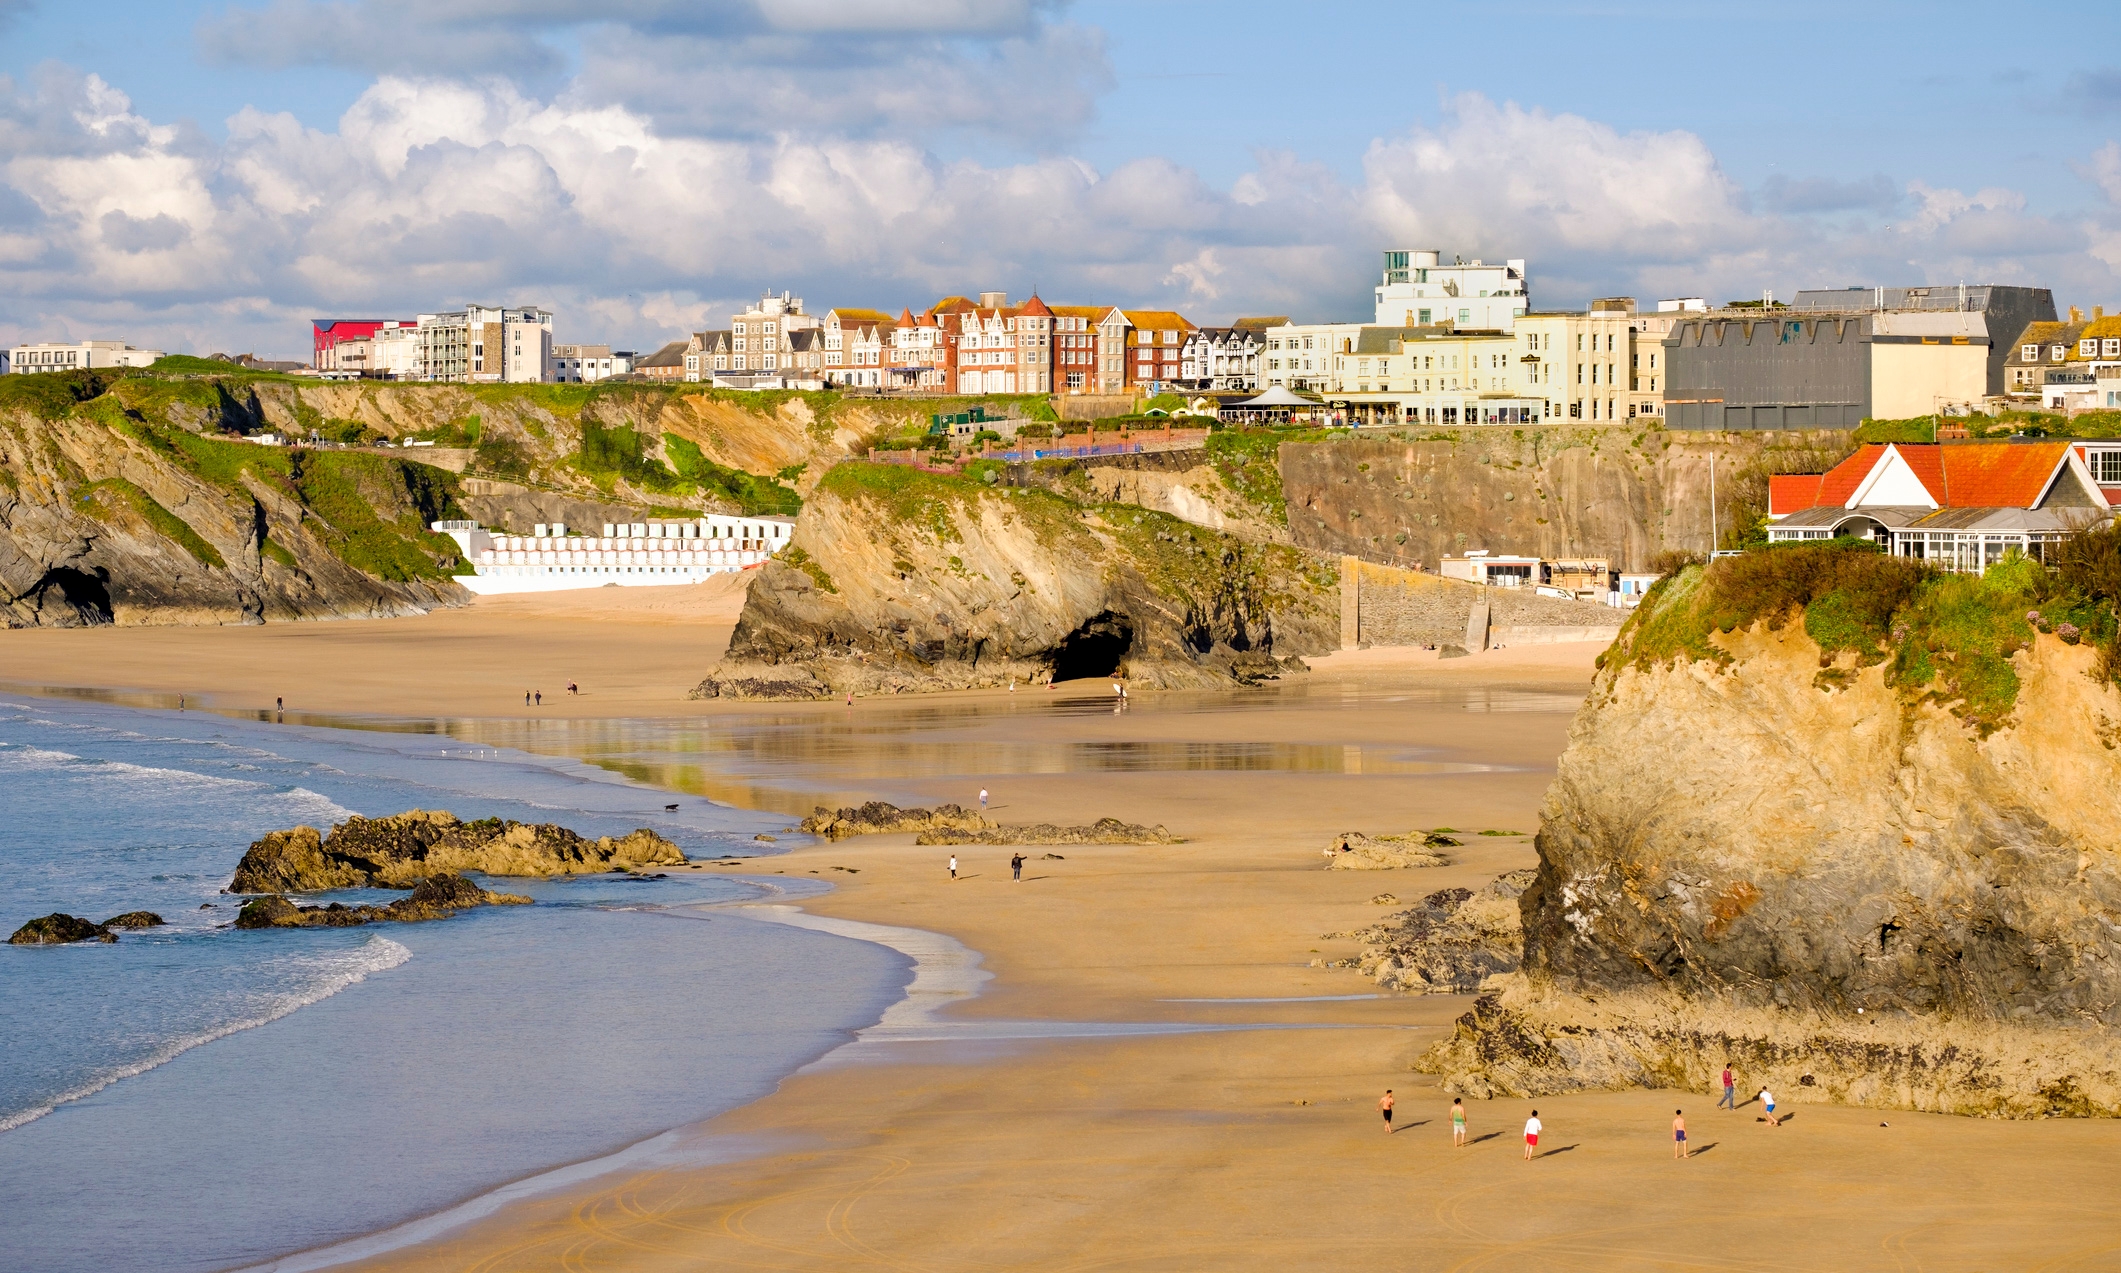
<path id="1" fill-rule="evenodd" d="M 1642 668 L 1671 660 L 1729 666 L 1714 636 L 1799 622 L 1820 645 L 1820 690 L 1847 685 L 1856 668 L 1886 666 L 1909 700 L 1947 707 L 1989 734 L 2017 707 L 2011 656 L 2032 643 L 2034 622 L 2064 641 L 2091 641 L 2113 675 L 2115 598 L 2121 594 L 2121 530 L 2074 541 L 2055 571 L 2011 556 L 1983 575 L 1949 575 L 1860 543 L 1792 543 L 1688 564 L 1644 598 L 1599 666 Z"/>

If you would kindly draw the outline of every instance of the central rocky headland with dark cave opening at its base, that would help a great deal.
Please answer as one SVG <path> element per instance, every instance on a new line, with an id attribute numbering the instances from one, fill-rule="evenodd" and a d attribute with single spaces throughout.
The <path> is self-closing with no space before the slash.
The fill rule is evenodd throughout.
<path id="1" fill-rule="evenodd" d="M 999 473 L 999 471 L 997 471 Z M 825 698 L 1054 675 L 1228 685 L 1338 645 L 1332 564 L 1128 505 L 851 463 L 694 692 Z"/>

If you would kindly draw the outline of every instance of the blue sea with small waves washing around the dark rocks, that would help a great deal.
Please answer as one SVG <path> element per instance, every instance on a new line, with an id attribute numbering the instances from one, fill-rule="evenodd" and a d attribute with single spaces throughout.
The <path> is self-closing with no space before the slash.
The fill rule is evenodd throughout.
<path id="1" fill-rule="evenodd" d="M 757 1099 L 910 976 L 702 910 L 770 893 L 730 878 L 488 880 L 537 904 L 231 927 L 250 840 L 405 808 L 649 825 L 691 857 L 785 827 L 443 734 L 0 698 L 0 927 L 170 921 L 0 948 L 0 1262 L 204 1271 L 371 1233 Z"/>

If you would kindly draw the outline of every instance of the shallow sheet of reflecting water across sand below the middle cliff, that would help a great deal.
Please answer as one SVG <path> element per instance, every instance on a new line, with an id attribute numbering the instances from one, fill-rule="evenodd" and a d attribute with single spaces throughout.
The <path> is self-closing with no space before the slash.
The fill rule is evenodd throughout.
<path id="1" fill-rule="evenodd" d="M 804 815 L 819 800 L 851 802 L 893 783 L 963 774 L 1152 774 L 1152 772 L 1300 772 L 1423 777 L 1510 772 L 1512 766 L 1463 760 L 1457 747 L 1404 740 L 1285 743 L 1258 738 L 1260 711 L 1362 713 L 1574 713 L 1580 692 L 1553 685 L 1377 687 L 1277 685 L 1245 692 L 1179 692 L 1135 698 L 1124 713 L 1143 738 L 1086 736 L 1097 717 L 1114 717 L 1103 681 L 1060 692 L 944 700 L 893 698 L 840 704 L 757 704 L 744 711 L 679 719 L 488 719 L 346 717 L 325 713 L 225 711 L 240 719 L 337 730 L 445 736 L 477 749 L 573 757 L 634 783 L 704 796 L 738 808 Z M 42 690 L 66 698 L 174 709 L 161 694 Z M 1226 717 L 1217 738 L 1158 738 L 1200 732 L 1203 717 Z M 1035 736 L 1052 726 L 1052 738 Z M 1262 730 L 1264 732 L 1264 730 Z M 1031 736 L 1027 736 L 1031 734 Z M 454 749 L 452 749 L 454 751 Z M 908 794 L 906 798 L 914 798 Z"/>

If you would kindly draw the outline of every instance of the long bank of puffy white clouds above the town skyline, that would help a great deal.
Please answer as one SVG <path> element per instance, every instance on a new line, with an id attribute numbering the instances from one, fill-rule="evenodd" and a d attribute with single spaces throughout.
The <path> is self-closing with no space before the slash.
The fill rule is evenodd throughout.
<path id="1" fill-rule="evenodd" d="M 2081 172 L 2121 202 L 2121 146 Z M 1538 306 L 2121 278 L 2113 212 L 1922 182 L 1896 199 L 1890 225 L 1833 193 L 1771 208 L 1693 134 L 1480 95 L 1379 138 L 1355 178 L 1258 153 L 1217 187 L 1156 155 L 991 163 L 889 129 L 670 129 L 509 79 L 382 76 L 335 127 L 244 110 L 216 142 L 49 70 L 0 81 L 0 339 L 297 354 L 312 316 L 479 301 L 551 306 L 562 339 L 655 348 L 766 286 L 817 310 L 1037 286 L 1196 320 L 1353 318 L 1387 246 L 1527 257 Z"/>

